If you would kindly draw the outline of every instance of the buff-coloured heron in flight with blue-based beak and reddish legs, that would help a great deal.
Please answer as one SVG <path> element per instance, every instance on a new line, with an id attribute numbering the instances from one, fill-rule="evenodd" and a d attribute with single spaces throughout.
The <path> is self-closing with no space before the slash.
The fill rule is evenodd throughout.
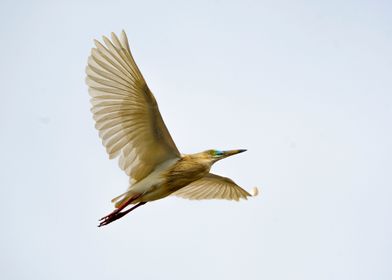
<path id="1" fill-rule="evenodd" d="M 257 195 L 257 188 L 252 195 L 230 178 L 210 172 L 217 161 L 245 149 L 179 152 L 131 54 L 125 31 L 102 39 L 103 43 L 94 40 L 86 67 L 91 112 L 109 158 L 119 159 L 129 186 L 112 199 L 114 210 L 99 220 L 98 227 L 169 195 L 236 201 Z"/>

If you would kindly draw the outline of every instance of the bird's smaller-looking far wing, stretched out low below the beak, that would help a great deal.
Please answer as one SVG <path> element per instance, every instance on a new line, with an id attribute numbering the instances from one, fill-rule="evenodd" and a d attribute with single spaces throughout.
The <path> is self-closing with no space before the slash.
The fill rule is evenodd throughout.
<path id="1" fill-rule="evenodd" d="M 203 178 L 196 180 L 186 187 L 174 192 L 172 195 L 187 199 L 227 199 L 239 200 L 252 196 L 233 180 L 208 173 Z"/>

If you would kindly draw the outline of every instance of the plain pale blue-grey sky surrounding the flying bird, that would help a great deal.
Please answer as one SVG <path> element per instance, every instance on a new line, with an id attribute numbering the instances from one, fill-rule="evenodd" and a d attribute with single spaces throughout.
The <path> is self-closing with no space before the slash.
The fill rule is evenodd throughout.
<path id="1" fill-rule="evenodd" d="M 127 176 L 84 83 L 126 30 L 184 153 L 249 201 L 170 197 L 97 228 Z M 392 279 L 390 1 L 0 3 L 1 279 Z"/>

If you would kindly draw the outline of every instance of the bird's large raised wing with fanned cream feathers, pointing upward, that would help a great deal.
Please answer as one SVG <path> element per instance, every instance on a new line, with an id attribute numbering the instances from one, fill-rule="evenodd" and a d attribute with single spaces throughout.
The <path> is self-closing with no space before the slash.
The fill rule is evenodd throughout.
<path id="1" fill-rule="evenodd" d="M 137 67 L 125 32 L 95 41 L 86 69 L 92 113 L 110 158 L 132 179 L 146 177 L 180 153 L 162 120 L 157 102 Z"/>

